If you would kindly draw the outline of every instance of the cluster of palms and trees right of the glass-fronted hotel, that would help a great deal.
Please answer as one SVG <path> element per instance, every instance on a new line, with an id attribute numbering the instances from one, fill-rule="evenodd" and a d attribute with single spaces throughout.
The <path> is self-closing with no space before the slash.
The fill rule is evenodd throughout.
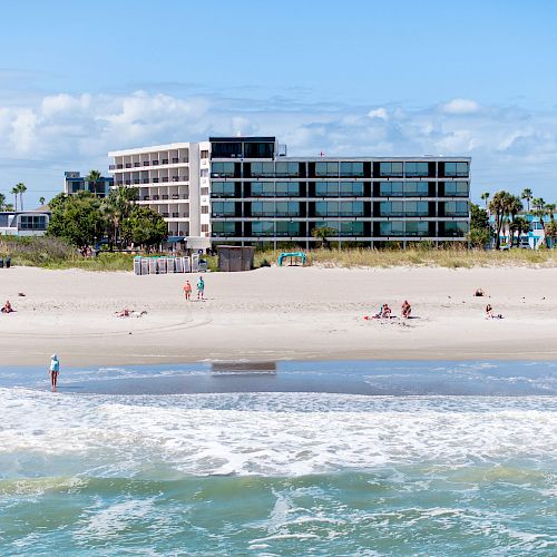
<path id="1" fill-rule="evenodd" d="M 518 195 L 500 190 L 494 194 L 485 192 L 480 198 L 485 208 L 476 204 L 470 209 L 470 242 L 482 246 L 495 236 L 496 248 L 501 246 L 501 233 L 509 238 L 509 247 L 518 245 L 520 236 L 530 231 L 531 221 L 528 215 L 538 218 L 545 235 L 545 245 L 551 247 L 557 238 L 557 223 L 555 222 L 555 203 L 546 203 L 541 197 L 534 197 L 532 190 L 525 188 Z M 526 202 L 526 211 L 524 206 Z M 490 223 L 490 215 L 494 223 Z"/>

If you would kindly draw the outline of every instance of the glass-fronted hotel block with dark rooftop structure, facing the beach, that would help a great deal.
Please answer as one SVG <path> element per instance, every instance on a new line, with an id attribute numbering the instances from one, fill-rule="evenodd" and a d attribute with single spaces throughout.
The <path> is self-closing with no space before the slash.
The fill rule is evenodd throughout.
<path id="1" fill-rule="evenodd" d="M 287 157 L 274 137 L 211 137 L 213 244 L 465 242 L 469 157 Z"/>

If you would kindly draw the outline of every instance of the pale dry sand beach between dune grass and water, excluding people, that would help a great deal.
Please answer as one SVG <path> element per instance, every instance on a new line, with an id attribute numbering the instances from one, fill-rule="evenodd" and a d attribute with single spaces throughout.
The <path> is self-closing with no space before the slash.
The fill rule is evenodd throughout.
<path id="1" fill-rule="evenodd" d="M 266 359 L 557 359 L 557 268 L 332 270 L 196 275 L 0 270 L 0 364 Z M 481 287 L 490 297 L 475 297 Z M 26 294 L 18 296 L 19 292 Z M 524 296 L 524 297 L 522 297 Z M 364 321 L 404 299 L 416 319 Z M 486 303 L 504 320 L 486 320 Z M 140 319 L 117 310 L 146 310 Z"/>

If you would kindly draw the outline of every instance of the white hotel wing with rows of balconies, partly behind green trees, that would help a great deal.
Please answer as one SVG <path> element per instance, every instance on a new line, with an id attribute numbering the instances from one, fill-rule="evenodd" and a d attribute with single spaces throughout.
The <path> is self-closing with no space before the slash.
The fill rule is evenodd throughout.
<path id="1" fill-rule="evenodd" d="M 109 153 L 114 187 L 136 187 L 140 205 L 168 224 L 168 244 L 211 245 L 208 141 L 175 143 Z"/>

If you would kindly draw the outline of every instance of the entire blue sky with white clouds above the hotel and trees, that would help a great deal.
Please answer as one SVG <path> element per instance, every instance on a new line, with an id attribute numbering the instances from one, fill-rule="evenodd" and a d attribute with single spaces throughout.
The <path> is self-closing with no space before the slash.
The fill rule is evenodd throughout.
<path id="1" fill-rule="evenodd" d="M 109 150 L 274 135 L 289 155 L 472 157 L 556 202 L 551 0 L 1 0 L 0 193 Z"/>

